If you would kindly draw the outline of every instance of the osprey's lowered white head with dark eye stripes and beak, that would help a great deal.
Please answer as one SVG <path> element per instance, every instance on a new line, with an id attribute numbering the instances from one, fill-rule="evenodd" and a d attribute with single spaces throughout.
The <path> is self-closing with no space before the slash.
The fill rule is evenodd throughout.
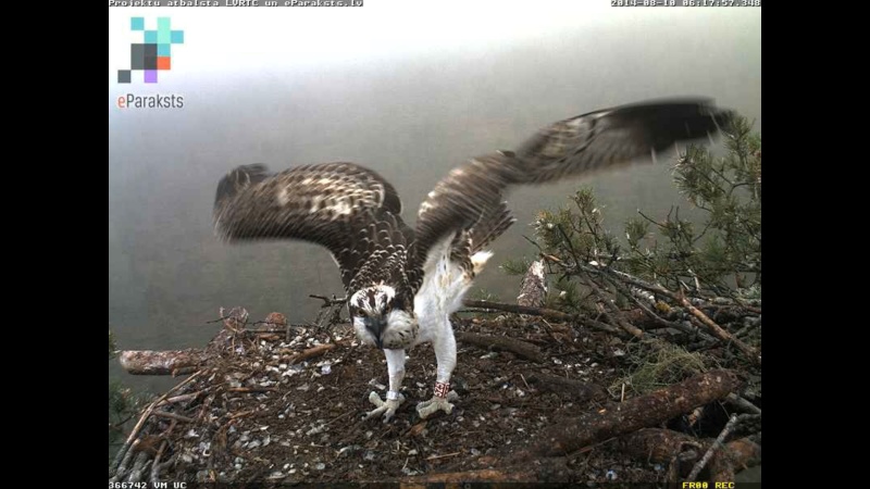
<path id="1" fill-rule="evenodd" d="M 356 291 L 348 300 L 350 317 L 357 337 L 366 344 L 384 348 L 406 348 L 413 338 L 413 312 L 406 309 L 396 289 L 374 285 Z M 412 305 L 411 305 L 412 308 Z"/>

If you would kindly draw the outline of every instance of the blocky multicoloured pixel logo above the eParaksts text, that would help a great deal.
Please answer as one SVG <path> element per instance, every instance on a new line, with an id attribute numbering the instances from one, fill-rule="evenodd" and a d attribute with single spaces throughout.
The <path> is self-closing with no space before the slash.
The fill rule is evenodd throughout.
<path id="1" fill-rule="evenodd" d="M 145 17 L 132 17 L 129 28 L 144 34 L 142 43 L 129 47 L 129 70 L 117 71 L 117 83 L 129 84 L 133 72 L 142 72 L 144 82 L 156 84 L 158 73 L 172 68 L 172 45 L 184 43 L 184 30 L 172 30 L 170 17 L 158 17 L 157 30 L 145 29 Z"/>

